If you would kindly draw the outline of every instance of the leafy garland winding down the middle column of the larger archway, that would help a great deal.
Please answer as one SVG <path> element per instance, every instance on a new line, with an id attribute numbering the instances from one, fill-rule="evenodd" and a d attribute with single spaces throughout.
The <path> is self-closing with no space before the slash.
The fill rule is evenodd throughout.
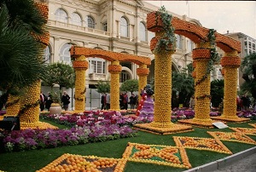
<path id="1" fill-rule="evenodd" d="M 210 48 L 210 59 L 207 64 L 207 72 L 205 73 L 205 75 L 203 77 L 201 77 L 201 79 L 199 79 L 198 81 L 195 82 L 195 86 L 207 79 L 207 76 L 212 72 L 212 69 L 213 69 L 212 66 L 220 60 L 220 57 L 216 50 L 216 43 L 215 43 L 216 37 L 214 35 L 215 32 L 216 31 L 214 29 L 210 29 L 207 34 L 207 39 L 209 40 L 210 47 L 211 47 Z M 198 49 L 195 49 L 195 50 L 198 50 Z M 196 100 L 205 99 L 206 97 L 211 99 L 211 95 L 201 95 L 201 96 L 197 96 Z"/>

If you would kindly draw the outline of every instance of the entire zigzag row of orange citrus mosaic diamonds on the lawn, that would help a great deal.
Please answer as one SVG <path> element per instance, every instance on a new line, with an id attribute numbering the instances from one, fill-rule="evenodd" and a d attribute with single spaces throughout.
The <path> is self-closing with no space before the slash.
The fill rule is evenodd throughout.
<path id="1" fill-rule="evenodd" d="M 249 123 L 252 126 L 255 124 Z M 230 128 L 236 132 L 211 132 L 207 131 L 213 138 L 172 136 L 176 146 L 147 145 L 128 142 L 122 158 L 102 158 L 97 156 L 81 156 L 73 154 L 63 154 L 44 168 L 36 172 L 51 171 L 96 171 L 96 172 L 122 172 L 125 171 L 127 162 L 154 163 L 166 165 L 174 168 L 191 169 L 186 148 L 205 150 L 232 154 L 224 146 L 221 140 L 236 141 L 240 143 L 256 145 L 256 141 L 247 135 L 255 134 L 254 129 Z M 240 130 L 239 130 L 240 129 Z"/>

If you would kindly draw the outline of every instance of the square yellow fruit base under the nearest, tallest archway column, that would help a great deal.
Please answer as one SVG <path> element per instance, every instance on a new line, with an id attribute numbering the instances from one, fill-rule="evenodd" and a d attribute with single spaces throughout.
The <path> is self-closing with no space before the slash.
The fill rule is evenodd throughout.
<path id="1" fill-rule="evenodd" d="M 184 133 L 184 132 L 189 132 L 194 130 L 191 126 L 180 125 L 180 124 L 172 124 L 171 127 L 160 128 L 160 127 L 152 127 L 150 123 L 137 123 L 133 125 L 133 128 L 143 130 L 149 133 L 157 134 L 157 135 L 171 135 L 175 133 Z"/>

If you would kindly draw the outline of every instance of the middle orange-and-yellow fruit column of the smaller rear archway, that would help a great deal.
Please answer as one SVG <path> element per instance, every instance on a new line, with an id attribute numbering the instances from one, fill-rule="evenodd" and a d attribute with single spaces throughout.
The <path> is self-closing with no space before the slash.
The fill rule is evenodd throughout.
<path id="1" fill-rule="evenodd" d="M 119 65 L 119 60 L 111 61 L 108 65 L 108 72 L 111 74 L 110 78 L 110 111 L 119 111 L 119 80 L 122 66 Z"/>

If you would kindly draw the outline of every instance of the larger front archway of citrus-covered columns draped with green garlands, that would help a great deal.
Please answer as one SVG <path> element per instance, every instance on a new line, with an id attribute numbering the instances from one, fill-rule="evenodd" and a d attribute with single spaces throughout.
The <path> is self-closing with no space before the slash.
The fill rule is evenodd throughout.
<path id="1" fill-rule="evenodd" d="M 210 70 L 212 61 L 216 60 L 217 45 L 224 50 L 221 65 L 224 67 L 224 114 L 222 120 L 241 122 L 236 116 L 236 79 L 237 68 L 241 64 L 238 54 L 241 44 L 212 29 L 197 26 L 194 23 L 172 17 L 165 9 L 154 11 L 147 15 L 147 28 L 155 32 L 150 42 L 150 49 L 155 55 L 154 66 L 154 121 L 152 123 L 136 124 L 137 128 L 160 134 L 176 133 L 189 130 L 171 122 L 172 109 L 172 54 L 175 49 L 173 33 L 189 37 L 196 47 L 192 51 L 195 61 L 195 118 L 179 121 L 192 125 L 213 128 L 215 122 L 210 118 Z M 168 18 L 168 19 L 166 19 Z M 164 44 L 166 43 L 167 44 Z M 162 44 L 160 44 L 162 43 Z M 160 47 L 161 45 L 162 47 Z M 163 49 L 164 46 L 164 49 Z M 156 51 L 156 50 L 157 51 Z"/>

